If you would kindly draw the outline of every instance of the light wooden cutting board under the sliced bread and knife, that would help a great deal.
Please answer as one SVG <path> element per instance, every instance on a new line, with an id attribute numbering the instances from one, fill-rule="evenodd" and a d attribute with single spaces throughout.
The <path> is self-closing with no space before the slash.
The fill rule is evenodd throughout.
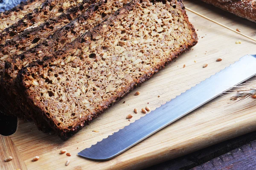
<path id="1" fill-rule="evenodd" d="M 256 23 L 198 1 L 184 3 L 207 17 L 256 37 Z M 80 150 L 96 144 L 145 115 L 141 112 L 135 114 L 134 108 L 140 111 L 148 105 L 154 110 L 240 57 L 256 54 L 255 42 L 189 11 L 187 13 L 190 22 L 198 30 L 198 45 L 65 142 L 54 134 L 38 131 L 32 122 L 20 120 L 15 134 L 0 136 L 0 169 L 140 169 L 256 130 L 256 107 L 253 107 L 256 100 L 247 99 L 235 103 L 230 101 L 230 94 L 214 99 L 109 161 L 91 161 L 76 155 Z M 238 40 L 241 40 L 241 44 L 235 43 Z M 216 62 L 218 57 L 223 60 Z M 202 68 L 204 63 L 208 63 L 207 68 Z M 183 68 L 183 65 L 186 67 Z M 136 91 L 141 94 L 134 96 Z M 130 121 L 125 119 L 128 114 L 133 115 Z M 60 155 L 62 149 L 66 149 L 71 156 Z M 4 162 L 6 156 L 13 156 L 14 159 Z M 34 156 L 40 156 L 40 159 L 32 162 Z M 70 164 L 65 166 L 68 159 Z"/>

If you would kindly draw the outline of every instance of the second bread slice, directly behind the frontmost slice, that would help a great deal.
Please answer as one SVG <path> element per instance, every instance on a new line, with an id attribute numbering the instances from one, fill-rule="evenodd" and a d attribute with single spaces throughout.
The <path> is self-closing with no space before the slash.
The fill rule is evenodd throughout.
<path id="1" fill-rule="evenodd" d="M 49 36 L 47 40 L 39 43 L 35 47 L 23 52 L 17 56 L 10 56 L 6 60 L 6 74 L 1 79 L 1 93 L 6 99 L 2 102 L 7 102 L 6 106 L 11 106 L 9 109 L 11 112 L 19 117 L 29 117 L 34 115 L 25 104 L 26 101 L 20 99 L 15 86 L 15 78 L 17 77 L 17 71 L 30 62 L 43 58 L 46 55 L 50 55 L 52 52 L 57 51 L 64 45 L 72 42 L 77 37 L 84 34 L 93 26 L 101 23 L 109 14 L 121 8 L 123 3 L 127 3 L 128 0 L 98 0 L 97 3 L 87 7 L 87 10 L 81 14 L 77 19 L 71 21 L 64 27 L 55 31 L 54 34 Z M 36 31 L 35 31 L 36 32 Z M 50 54 L 49 54 L 50 52 Z M 21 111 L 20 111 L 21 108 Z M 24 114 L 25 113 L 25 114 Z"/>

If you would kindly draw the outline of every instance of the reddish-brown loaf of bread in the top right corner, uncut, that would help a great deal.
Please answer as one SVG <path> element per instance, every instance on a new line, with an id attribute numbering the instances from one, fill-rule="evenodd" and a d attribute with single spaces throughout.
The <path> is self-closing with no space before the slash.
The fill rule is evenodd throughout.
<path id="1" fill-rule="evenodd" d="M 239 17 L 256 22 L 256 0 L 202 0 Z"/>

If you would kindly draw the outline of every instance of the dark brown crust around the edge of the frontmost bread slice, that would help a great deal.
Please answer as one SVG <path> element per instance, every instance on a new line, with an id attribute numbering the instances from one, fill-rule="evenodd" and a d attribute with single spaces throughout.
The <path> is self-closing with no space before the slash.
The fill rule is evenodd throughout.
<path id="1" fill-rule="evenodd" d="M 172 1 L 173 2 L 173 1 Z M 133 1 L 131 3 L 128 3 L 123 8 L 116 11 L 112 16 L 110 16 L 107 20 L 105 20 L 103 23 L 99 24 L 95 28 L 88 31 L 86 34 L 84 34 L 83 37 L 79 37 L 74 42 L 72 42 L 70 45 L 67 45 L 65 48 L 63 48 L 60 51 L 57 51 L 55 54 L 53 54 L 53 57 L 46 57 L 42 61 L 35 62 L 25 68 L 22 68 L 18 75 L 17 75 L 17 83 L 20 88 L 20 92 L 26 99 L 28 100 L 29 104 L 32 106 L 32 108 L 35 110 L 35 113 L 38 113 L 42 115 L 47 122 L 49 123 L 49 126 L 52 127 L 58 136 L 61 137 L 61 139 L 66 140 L 70 136 L 73 136 L 76 132 L 78 132 L 84 124 L 89 123 L 92 119 L 96 118 L 101 114 L 105 109 L 108 109 L 111 105 L 113 105 L 118 100 L 122 99 L 124 96 L 126 96 L 130 91 L 132 91 L 134 88 L 136 88 L 138 85 L 142 84 L 146 80 L 150 79 L 150 77 L 157 73 L 161 68 L 163 68 L 165 65 L 167 65 L 169 62 L 171 62 L 173 59 L 178 57 L 181 53 L 187 51 L 189 48 L 194 46 L 197 43 L 197 34 L 195 32 L 195 28 L 192 26 L 191 23 L 188 21 L 188 17 L 186 15 L 185 8 L 183 6 L 183 3 L 180 0 L 176 1 L 177 8 L 182 11 L 182 14 L 184 16 L 185 22 L 188 24 L 188 29 L 191 33 L 191 39 L 188 40 L 185 44 L 182 45 L 178 50 L 172 52 L 170 56 L 166 59 L 161 60 L 161 64 L 154 66 L 153 70 L 151 72 L 146 72 L 143 75 L 141 75 L 136 81 L 134 80 L 131 82 L 128 86 L 126 86 L 122 91 L 119 91 L 115 96 L 111 96 L 111 98 L 108 98 L 108 101 L 104 102 L 104 105 L 98 106 L 95 108 L 95 111 L 90 112 L 90 115 L 86 117 L 82 117 L 81 121 L 75 122 L 71 128 L 61 128 L 58 125 L 58 122 L 56 122 L 54 119 L 51 119 L 49 117 L 49 113 L 47 113 L 44 110 L 44 106 L 41 105 L 40 101 L 37 101 L 35 99 L 35 96 L 32 96 L 30 94 L 30 88 L 32 88 L 32 85 L 28 85 L 26 83 L 26 80 L 29 80 L 30 76 L 33 73 L 40 72 L 43 68 L 49 68 L 50 65 L 52 65 L 57 59 L 61 58 L 63 54 L 68 53 L 69 51 L 73 51 L 74 49 L 81 48 L 81 43 L 84 42 L 85 44 L 87 42 L 90 42 L 91 39 L 94 39 L 94 37 L 99 34 L 99 32 L 105 32 L 106 30 L 104 28 L 108 28 L 108 26 L 111 26 L 115 20 L 119 20 L 122 17 L 125 17 L 128 15 L 129 11 L 132 11 L 134 7 L 136 7 L 137 1 Z M 176 6 L 175 6 L 176 7 Z"/>

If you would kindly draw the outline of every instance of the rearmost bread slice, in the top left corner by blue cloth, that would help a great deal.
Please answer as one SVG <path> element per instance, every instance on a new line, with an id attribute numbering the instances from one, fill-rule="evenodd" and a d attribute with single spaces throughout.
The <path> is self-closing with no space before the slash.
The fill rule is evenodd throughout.
<path id="1" fill-rule="evenodd" d="M 34 8 L 39 6 L 44 0 L 27 0 L 21 1 L 21 3 L 14 8 L 2 12 L 0 14 L 0 31 L 4 28 L 11 26 L 18 20 L 24 17 L 27 13 L 31 12 Z"/>

